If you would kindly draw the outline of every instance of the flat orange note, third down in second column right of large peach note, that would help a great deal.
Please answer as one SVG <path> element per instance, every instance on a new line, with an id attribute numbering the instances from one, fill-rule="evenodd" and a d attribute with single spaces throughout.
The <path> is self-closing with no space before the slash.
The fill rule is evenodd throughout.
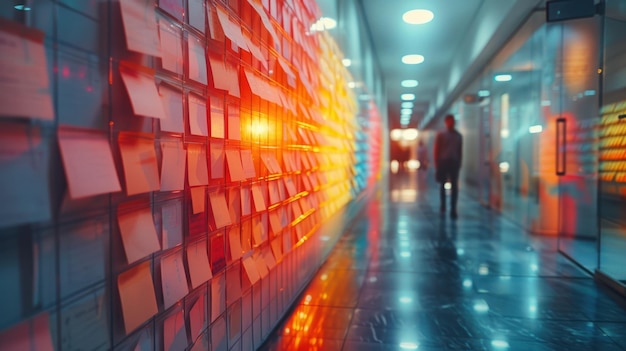
<path id="1" fill-rule="evenodd" d="M 187 151 L 182 141 L 161 140 L 161 154 L 161 191 L 183 190 Z"/>

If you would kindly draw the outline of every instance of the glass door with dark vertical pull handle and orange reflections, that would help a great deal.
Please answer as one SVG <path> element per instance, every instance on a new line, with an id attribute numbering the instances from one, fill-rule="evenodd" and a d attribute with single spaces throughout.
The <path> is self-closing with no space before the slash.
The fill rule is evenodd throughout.
<path id="1" fill-rule="evenodd" d="M 561 24 L 560 111 L 554 123 L 559 250 L 584 269 L 598 267 L 598 129 L 601 18 Z"/>

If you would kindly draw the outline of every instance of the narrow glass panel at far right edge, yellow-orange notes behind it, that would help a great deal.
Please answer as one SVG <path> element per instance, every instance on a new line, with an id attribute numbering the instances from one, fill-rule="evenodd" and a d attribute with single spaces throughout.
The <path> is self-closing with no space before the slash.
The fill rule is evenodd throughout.
<path id="1" fill-rule="evenodd" d="M 626 3 L 608 0 L 600 128 L 600 271 L 626 285 Z"/>

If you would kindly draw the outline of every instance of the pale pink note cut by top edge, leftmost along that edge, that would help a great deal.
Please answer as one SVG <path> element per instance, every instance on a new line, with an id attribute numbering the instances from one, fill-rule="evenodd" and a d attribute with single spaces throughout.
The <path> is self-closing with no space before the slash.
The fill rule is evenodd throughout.
<path id="1" fill-rule="evenodd" d="M 128 50 L 161 57 L 154 3 L 145 0 L 119 0 Z"/>

